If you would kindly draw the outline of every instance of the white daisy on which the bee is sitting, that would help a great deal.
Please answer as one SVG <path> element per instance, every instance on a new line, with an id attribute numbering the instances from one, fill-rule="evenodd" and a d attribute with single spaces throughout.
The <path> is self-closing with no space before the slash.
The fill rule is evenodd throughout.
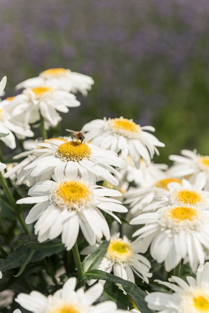
<path id="1" fill-rule="evenodd" d="M 70 139 L 68 137 L 68 140 Z M 54 173 L 55 180 L 62 180 L 64 176 L 71 179 L 80 176 L 95 185 L 98 176 L 111 184 L 118 185 L 118 180 L 110 172 L 120 177 L 112 166 L 121 166 L 123 160 L 113 151 L 78 141 L 71 140 L 63 143 L 63 141 L 52 140 L 45 152 L 40 158 L 24 167 L 24 170 L 32 170 L 30 172 L 32 177 L 43 173 L 50 177 Z"/>

